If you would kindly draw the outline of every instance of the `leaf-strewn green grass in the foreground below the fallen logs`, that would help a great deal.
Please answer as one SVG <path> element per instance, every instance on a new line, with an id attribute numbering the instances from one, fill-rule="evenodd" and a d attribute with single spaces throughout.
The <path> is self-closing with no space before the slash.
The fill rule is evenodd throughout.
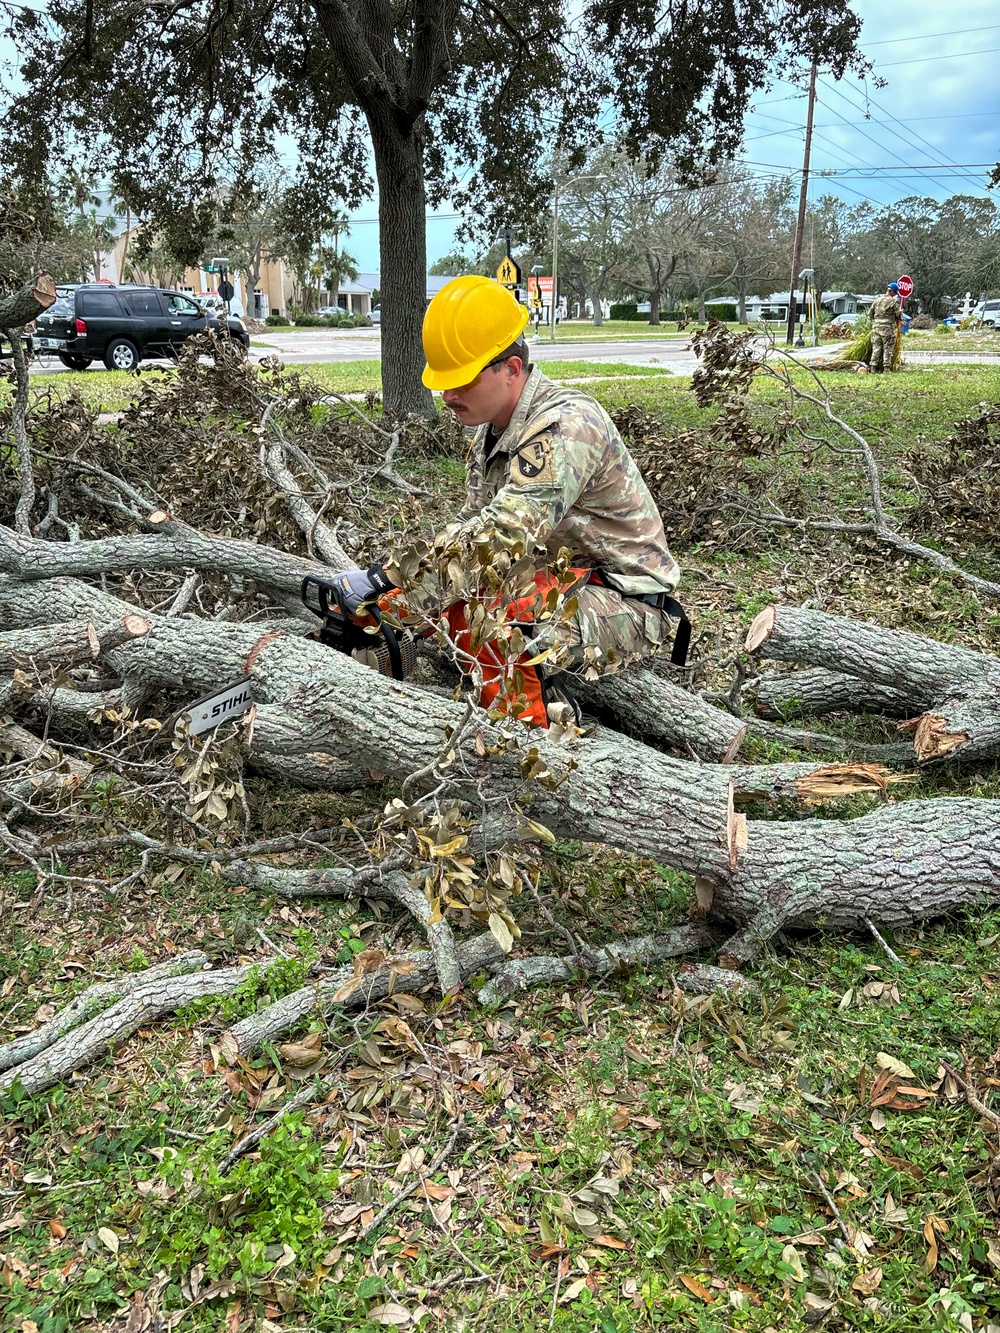
<path id="1" fill-rule="evenodd" d="M 543 884 L 567 925 L 597 941 L 683 918 L 680 877 L 579 853 L 557 845 Z M 159 905 L 157 934 L 216 938 L 232 904 L 200 878 Z M 345 905 L 304 906 L 295 925 L 260 897 L 240 910 L 285 950 L 309 940 L 324 960 L 357 924 Z M 7 941 L 29 974 L 25 1016 L 65 1000 L 71 957 L 124 970 L 129 932 L 157 956 L 117 909 L 77 913 L 63 937 L 45 916 Z M 537 948 L 557 945 L 524 918 Z M 367 1312 L 395 1301 L 423 1304 L 425 1329 L 533 1333 L 552 1317 L 565 1333 L 801 1333 L 807 1293 L 836 1302 L 835 1326 L 872 1333 L 945 1333 L 967 1310 L 973 1326 L 996 1320 L 996 1222 L 976 1181 L 989 1136 L 941 1093 L 880 1117 L 871 1089 L 881 1053 L 932 1089 L 941 1058 L 1000 1046 L 999 936 L 996 910 L 900 932 L 901 968 L 864 937 L 793 937 L 755 966 L 760 1005 L 685 1000 L 671 969 L 653 969 L 497 1013 L 471 998 L 440 1016 L 407 1009 L 447 1070 L 429 1082 L 425 1054 L 375 1030 L 381 1013 L 357 1030 L 312 1022 L 343 1090 L 228 1176 L 233 1138 L 301 1086 L 296 1066 L 269 1049 L 227 1082 L 211 1066 L 221 1013 L 144 1030 L 85 1085 L 4 1101 L 9 1326 L 92 1333 L 147 1292 L 179 1312 L 192 1274 L 208 1298 L 188 1309 L 189 1333 L 221 1330 L 236 1301 L 251 1329 L 265 1314 L 288 1329 L 375 1329 Z M 365 1064 L 373 1041 L 384 1074 Z M 435 1198 L 417 1190 L 361 1240 L 405 1182 L 404 1150 L 429 1161 L 451 1124 L 461 1134 L 429 1177 Z M 933 1272 L 928 1218 L 940 1220 Z"/>

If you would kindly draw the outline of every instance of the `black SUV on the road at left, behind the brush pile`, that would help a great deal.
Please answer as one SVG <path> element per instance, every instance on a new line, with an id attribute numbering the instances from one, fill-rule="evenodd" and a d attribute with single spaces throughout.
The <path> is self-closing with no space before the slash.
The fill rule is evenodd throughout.
<path id="1" fill-rule="evenodd" d="M 187 292 L 132 284 L 60 285 L 35 329 L 36 351 L 55 352 L 71 371 L 85 371 L 97 360 L 109 371 L 132 371 L 147 357 L 176 357 L 189 337 L 205 329 L 249 347 L 237 316 L 220 319 Z"/>

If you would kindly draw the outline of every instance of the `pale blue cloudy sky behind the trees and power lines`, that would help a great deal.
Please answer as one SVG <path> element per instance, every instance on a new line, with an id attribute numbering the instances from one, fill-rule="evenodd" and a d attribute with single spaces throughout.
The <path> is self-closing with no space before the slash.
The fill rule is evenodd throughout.
<path id="1" fill-rule="evenodd" d="M 25 0 L 28 3 L 28 0 Z M 29 0 L 43 8 L 44 0 Z M 907 195 L 984 196 L 1000 161 L 1000 7 L 996 0 L 853 0 L 875 79 L 820 75 L 809 197 L 891 204 Z M 5 53 L 5 51 L 4 51 Z M 801 73 L 808 73 L 803 63 Z M 805 79 L 773 80 L 747 116 L 745 161 L 767 176 L 803 164 Z M 997 192 L 1000 196 L 1000 192 Z M 453 205 L 428 213 L 428 264 L 455 248 Z M 355 209 L 347 248 L 361 272 L 379 269 L 377 195 Z"/>

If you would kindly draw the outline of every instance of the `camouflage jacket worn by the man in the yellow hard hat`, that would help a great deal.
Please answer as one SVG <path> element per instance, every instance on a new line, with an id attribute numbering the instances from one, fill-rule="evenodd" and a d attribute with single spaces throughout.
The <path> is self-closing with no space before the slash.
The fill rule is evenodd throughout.
<path id="1" fill-rule="evenodd" d="M 487 456 L 476 431 L 467 475 L 465 533 L 492 531 L 508 549 L 572 551 L 625 595 L 669 592 L 680 568 L 635 459 L 604 409 L 535 367 L 511 423 Z"/>

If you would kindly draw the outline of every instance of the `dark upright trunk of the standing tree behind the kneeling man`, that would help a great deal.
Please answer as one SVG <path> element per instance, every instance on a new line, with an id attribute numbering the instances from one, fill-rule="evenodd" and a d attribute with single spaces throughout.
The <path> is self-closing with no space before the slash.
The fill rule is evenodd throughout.
<path id="1" fill-rule="evenodd" d="M 388 112 L 384 117 L 369 115 L 368 124 L 379 179 L 383 404 L 392 417 L 433 417 L 433 399 L 421 381 L 420 329 L 427 307 L 424 120 L 421 116 L 408 132 Z"/>

